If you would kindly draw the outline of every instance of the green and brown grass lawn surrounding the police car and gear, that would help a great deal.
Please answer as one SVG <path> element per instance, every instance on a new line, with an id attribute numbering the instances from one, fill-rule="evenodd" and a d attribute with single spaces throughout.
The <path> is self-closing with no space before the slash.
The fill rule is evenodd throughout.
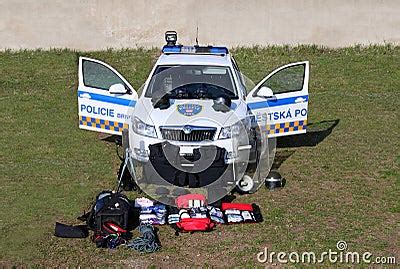
<path id="1" fill-rule="evenodd" d="M 52 234 L 56 221 L 78 223 L 95 195 L 115 186 L 119 165 L 112 143 L 78 129 L 79 55 L 111 64 L 139 88 L 159 51 L 0 52 L 0 266 L 255 265 L 264 247 L 321 253 L 338 240 L 350 251 L 400 262 L 400 47 L 233 53 L 255 82 L 280 65 L 309 60 L 314 125 L 306 138 L 337 125 L 314 145 L 279 148 L 275 166 L 285 188 L 237 197 L 259 204 L 263 223 L 178 237 L 160 227 L 162 251 L 140 255 Z"/>

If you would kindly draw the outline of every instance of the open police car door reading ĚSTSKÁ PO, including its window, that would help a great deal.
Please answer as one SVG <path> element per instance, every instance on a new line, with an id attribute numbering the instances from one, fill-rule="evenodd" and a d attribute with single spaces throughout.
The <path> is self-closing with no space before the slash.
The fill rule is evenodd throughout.
<path id="1" fill-rule="evenodd" d="M 282 66 L 248 94 L 248 108 L 268 137 L 306 132 L 309 70 L 308 61 Z"/>

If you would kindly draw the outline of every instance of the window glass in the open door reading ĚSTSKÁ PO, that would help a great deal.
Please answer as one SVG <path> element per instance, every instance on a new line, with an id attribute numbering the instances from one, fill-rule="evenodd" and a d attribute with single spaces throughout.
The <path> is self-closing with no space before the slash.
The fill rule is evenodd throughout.
<path id="1" fill-rule="evenodd" d="M 305 64 L 301 64 L 282 69 L 267 79 L 261 87 L 270 88 L 274 94 L 301 91 L 304 84 L 305 68 Z"/>

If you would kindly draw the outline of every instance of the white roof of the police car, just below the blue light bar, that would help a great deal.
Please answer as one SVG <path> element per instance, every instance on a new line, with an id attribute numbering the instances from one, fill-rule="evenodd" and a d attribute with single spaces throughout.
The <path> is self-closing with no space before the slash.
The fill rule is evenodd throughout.
<path id="1" fill-rule="evenodd" d="M 216 65 L 231 66 L 232 61 L 229 54 L 162 54 L 156 65 Z"/>

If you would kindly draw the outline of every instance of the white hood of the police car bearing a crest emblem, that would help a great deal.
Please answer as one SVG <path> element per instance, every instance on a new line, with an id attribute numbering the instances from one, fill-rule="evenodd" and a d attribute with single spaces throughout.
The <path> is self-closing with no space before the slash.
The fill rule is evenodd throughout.
<path id="1" fill-rule="evenodd" d="M 238 117 L 234 114 L 238 108 L 243 106 L 239 100 L 232 100 L 229 110 L 219 111 L 213 100 L 185 99 L 172 100 L 171 103 L 170 107 L 160 109 L 153 108 L 150 98 L 143 100 L 152 124 L 155 126 L 224 127 L 238 121 Z"/>

